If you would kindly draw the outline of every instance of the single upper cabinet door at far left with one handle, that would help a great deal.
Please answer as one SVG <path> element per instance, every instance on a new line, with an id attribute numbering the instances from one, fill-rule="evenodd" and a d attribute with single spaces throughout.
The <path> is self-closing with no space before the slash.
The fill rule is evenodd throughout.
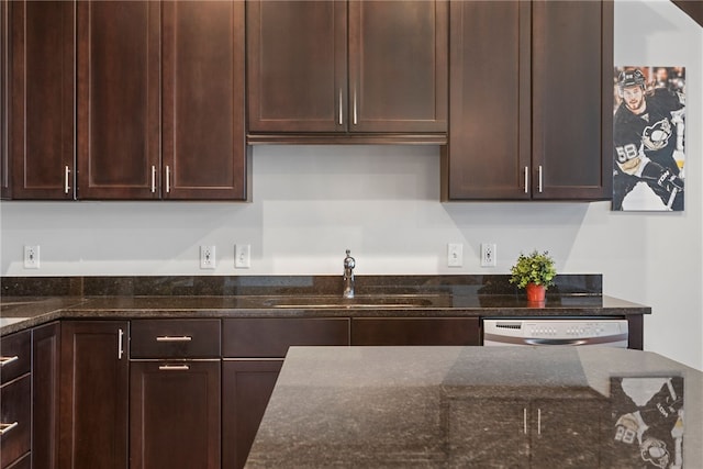
<path id="1" fill-rule="evenodd" d="M 10 2 L 14 199 L 72 199 L 75 3 Z"/>

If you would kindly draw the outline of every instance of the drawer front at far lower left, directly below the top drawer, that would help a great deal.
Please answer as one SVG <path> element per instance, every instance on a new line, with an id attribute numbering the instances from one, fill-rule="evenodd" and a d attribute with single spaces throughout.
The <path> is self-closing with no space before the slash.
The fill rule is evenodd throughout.
<path id="1" fill-rule="evenodd" d="M 26 375 L 0 388 L 0 467 L 5 468 L 30 450 L 32 380 Z"/>

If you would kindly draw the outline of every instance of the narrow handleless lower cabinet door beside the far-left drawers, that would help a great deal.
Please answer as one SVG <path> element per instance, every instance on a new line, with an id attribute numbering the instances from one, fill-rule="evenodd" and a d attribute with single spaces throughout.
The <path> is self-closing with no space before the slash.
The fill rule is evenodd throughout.
<path id="1" fill-rule="evenodd" d="M 32 331 L 32 465 L 58 468 L 60 325 Z"/>

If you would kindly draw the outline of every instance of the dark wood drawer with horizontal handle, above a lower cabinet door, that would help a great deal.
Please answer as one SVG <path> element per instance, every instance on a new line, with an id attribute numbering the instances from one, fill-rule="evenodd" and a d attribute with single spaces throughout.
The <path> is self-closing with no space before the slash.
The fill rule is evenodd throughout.
<path id="1" fill-rule="evenodd" d="M 132 358 L 220 358 L 220 320 L 132 321 Z"/>

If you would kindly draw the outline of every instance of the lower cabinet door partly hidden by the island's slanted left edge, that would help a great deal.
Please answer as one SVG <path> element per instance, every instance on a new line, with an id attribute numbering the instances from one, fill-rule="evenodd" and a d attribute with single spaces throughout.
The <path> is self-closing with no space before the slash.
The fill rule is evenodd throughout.
<path id="1" fill-rule="evenodd" d="M 243 468 L 283 360 L 222 364 L 222 467 Z"/>

